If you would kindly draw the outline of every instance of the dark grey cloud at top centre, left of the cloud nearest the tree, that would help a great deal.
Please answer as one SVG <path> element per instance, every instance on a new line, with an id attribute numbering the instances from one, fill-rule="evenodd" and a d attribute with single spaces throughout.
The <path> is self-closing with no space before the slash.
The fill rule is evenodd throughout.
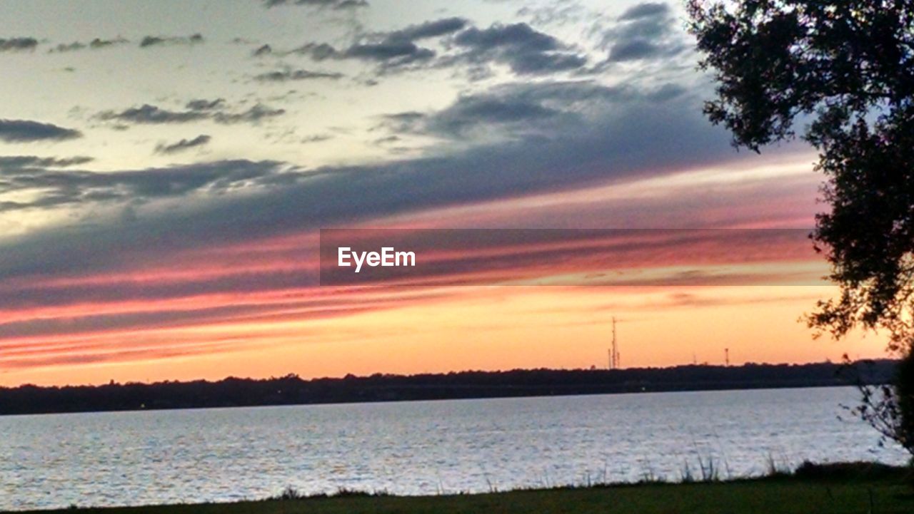
<path id="1" fill-rule="evenodd" d="M 587 58 L 572 47 L 526 23 L 471 27 L 453 37 L 453 44 L 464 50 L 455 61 L 475 66 L 497 62 L 518 75 L 551 74 L 587 65 Z"/>

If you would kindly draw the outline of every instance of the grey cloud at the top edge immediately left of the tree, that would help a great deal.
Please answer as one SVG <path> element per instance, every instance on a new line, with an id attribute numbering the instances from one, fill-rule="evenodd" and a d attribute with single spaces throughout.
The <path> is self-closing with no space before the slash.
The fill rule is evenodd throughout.
<path id="1" fill-rule="evenodd" d="M 682 31 L 666 4 L 634 5 L 603 37 L 608 62 L 669 58 L 685 50 Z"/>

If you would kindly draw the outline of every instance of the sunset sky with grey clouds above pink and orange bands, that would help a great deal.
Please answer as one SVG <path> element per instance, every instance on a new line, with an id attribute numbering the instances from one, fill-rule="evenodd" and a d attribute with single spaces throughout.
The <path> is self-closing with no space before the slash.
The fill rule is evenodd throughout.
<path id="1" fill-rule="evenodd" d="M 816 154 L 707 121 L 684 16 L 0 4 L 0 385 L 605 367 L 613 317 L 623 366 L 881 355 L 802 322 L 835 292 L 804 239 Z M 322 228 L 412 231 L 445 264 L 322 285 Z"/>

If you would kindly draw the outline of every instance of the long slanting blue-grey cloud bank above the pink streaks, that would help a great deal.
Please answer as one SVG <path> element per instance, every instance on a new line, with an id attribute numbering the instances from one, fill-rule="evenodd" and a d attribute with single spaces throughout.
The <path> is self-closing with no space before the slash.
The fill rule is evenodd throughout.
<path id="1" fill-rule="evenodd" d="M 0 241 L 0 278 L 112 270 L 135 266 L 137 258 L 162 259 L 182 249 L 250 240 L 251 234 L 268 237 L 347 226 L 433 207 L 656 177 L 736 158 L 726 131 L 708 124 L 701 114 L 705 91 L 688 93 L 675 86 L 643 91 L 636 84 L 610 88 L 575 81 L 510 84 L 478 95 L 539 105 L 541 112 L 519 114 L 515 106 L 499 120 L 483 113 L 473 121 L 473 129 L 469 121 L 457 123 L 462 131 L 525 123 L 550 130 L 456 150 L 449 142 L 442 146 L 446 152 L 373 165 L 303 170 L 280 163 L 224 162 L 87 177 L 58 173 L 66 175 L 70 186 L 81 181 L 76 191 L 84 193 L 76 201 L 88 205 L 188 192 L 207 195 L 180 209 L 137 209 L 126 224 L 99 219 Z M 457 100 L 445 110 L 399 118 L 431 130 L 447 126 L 445 121 L 458 112 L 478 111 L 467 106 L 479 101 Z M 462 116 L 469 120 L 469 114 Z M 510 123 L 505 117 L 524 121 Z M 54 185 L 44 173 L 40 176 L 42 186 Z M 92 187 L 95 181 L 104 186 Z M 247 187 L 245 194 L 230 193 L 242 186 Z M 223 194 L 209 194 L 213 190 Z"/>

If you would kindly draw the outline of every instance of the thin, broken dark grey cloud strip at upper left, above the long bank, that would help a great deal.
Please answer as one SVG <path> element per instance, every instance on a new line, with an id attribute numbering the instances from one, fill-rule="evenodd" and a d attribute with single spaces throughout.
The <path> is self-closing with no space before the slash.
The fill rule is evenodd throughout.
<path id="1" fill-rule="evenodd" d="M 186 103 L 185 110 L 167 110 L 160 107 L 143 104 L 125 110 L 104 110 L 95 115 L 101 121 L 118 121 L 138 125 L 154 125 L 166 123 L 189 123 L 193 121 L 211 120 L 224 125 L 234 123 L 258 123 L 268 118 L 285 114 L 285 110 L 271 109 L 263 104 L 256 104 L 248 110 L 229 110 L 228 104 L 223 99 L 216 100 L 190 100 Z"/>

